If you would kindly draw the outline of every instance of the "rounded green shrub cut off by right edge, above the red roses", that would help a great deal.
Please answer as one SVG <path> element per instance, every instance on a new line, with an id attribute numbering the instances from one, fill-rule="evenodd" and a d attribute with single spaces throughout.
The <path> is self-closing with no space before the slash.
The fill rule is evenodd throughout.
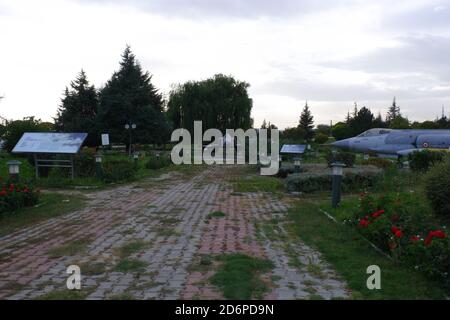
<path id="1" fill-rule="evenodd" d="M 425 193 L 436 214 L 450 217 L 450 159 L 425 176 Z"/>

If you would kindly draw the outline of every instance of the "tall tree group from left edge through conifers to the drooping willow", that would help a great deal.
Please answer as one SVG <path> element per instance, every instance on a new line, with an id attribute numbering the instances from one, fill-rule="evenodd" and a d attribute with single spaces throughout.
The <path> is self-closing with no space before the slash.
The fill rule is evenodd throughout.
<path id="1" fill-rule="evenodd" d="M 172 129 L 193 128 L 194 120 L 203 121 L 203 129 L 250 128 L 253 106 L 249 84 L 222 74 L 202 81 L 175 86 L 166 101 L 127 46 L 119 70 L 101 88 L 88 81 L 84 70 L 66 87 L 54 124 L 34 117 L 8 121 L 0 130 L 8 151 L 23 132 L 87 132 L 87 146 L 98 146 L 102 133 L 110 141 L 129 148 L 126 124 L 135 124 L 133 143 L 162 144 L 170 140 Z"/>

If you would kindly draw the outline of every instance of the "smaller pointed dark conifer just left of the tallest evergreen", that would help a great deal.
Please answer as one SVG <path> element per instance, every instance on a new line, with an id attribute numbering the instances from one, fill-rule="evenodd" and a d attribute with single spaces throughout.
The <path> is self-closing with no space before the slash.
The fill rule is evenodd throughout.
<path id="1" fill-rule="evenodd" d="M 86 73 L 81 70 L 76 79 L 66 87 L 64 97 L 55 118 L 55 128 L 60 132 L 86 132 L 86 144 L 98 145 L 99 135 L 96 131 L 98 108 L 97 91 L 89 84 Z"/>

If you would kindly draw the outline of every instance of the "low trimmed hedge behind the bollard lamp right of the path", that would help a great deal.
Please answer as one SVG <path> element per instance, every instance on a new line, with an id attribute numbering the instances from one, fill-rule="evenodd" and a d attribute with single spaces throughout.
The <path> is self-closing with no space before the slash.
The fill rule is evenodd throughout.
<path id="1" fill-rule="evenodd" d="M 372 172 L 346 173 L 342 178 L 342 191 L 353 192 L 365 190 L 373 186 L 379 179 L 379 174 Z M 331 191 L 332 177 L 329 173 L 292 174 L 286 178 L 288 191 L 311 193 Z"/>

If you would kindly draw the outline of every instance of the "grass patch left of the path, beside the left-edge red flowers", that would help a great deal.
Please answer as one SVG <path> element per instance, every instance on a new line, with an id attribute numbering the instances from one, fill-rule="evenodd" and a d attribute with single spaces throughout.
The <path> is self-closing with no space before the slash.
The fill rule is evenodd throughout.
<path id="1" fill-rule="evenodd" d="M 0 215 L 0 236 L 74 210 L 82 209 L 83 206 L 84 198 L 82 196 L 42 193 L 36 206 L 21 208 L 13 213 Z"/>

